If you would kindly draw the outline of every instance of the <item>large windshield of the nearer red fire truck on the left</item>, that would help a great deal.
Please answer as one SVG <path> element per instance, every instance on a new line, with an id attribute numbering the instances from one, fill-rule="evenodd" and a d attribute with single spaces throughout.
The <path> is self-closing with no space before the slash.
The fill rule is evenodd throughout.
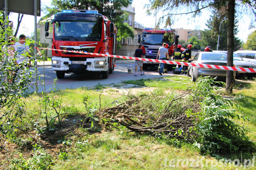
<path id="1" fill-rule="evenodd" d="M 65 41 L 100 41 L 102 19 L 95 21 L 55 21 L 56 40 Z"/>

